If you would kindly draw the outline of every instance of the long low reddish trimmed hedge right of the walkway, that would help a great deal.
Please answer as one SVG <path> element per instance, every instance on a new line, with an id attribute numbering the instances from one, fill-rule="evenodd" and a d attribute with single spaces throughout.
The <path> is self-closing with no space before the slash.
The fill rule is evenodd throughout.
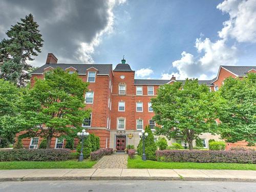
<path id="1" fill-rule="evenodd" d="M 187 151 L 163 150 L 156 152 L 157 161 L 196 162 L 196 163 L 253 163 L 256 164 L 254 151 Z"/>

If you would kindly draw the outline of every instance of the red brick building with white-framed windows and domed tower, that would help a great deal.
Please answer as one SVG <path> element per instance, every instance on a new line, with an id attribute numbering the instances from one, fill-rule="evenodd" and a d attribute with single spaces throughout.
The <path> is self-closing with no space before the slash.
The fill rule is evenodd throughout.
<path id="1" fill-rule="evenodd" d="M 57 58 L 49 53 L 46 64 L 32 73 L 32 86 L 35 77 L 44 78 L 47 71 L 58 67 L 69 73 L 76 72 L 84 82 L 90 82 L 89 91 L 84 97 L 87 108 L 92 109 L 92 114 L 90 118 L 84 119 L 82 126 L 88 129 L 89 133 L 95 133 L 100 137 L 100 147 L 117 148 L 118 151 L 123 151 L 127 144 L 137 146 L 138 133 L 146 125 L 150 125 L 154 130 L 151 98 L 157 95 L 159 86 L 185 81 L 177 80 L 175 77 L 168 80 L 135 79 L 135 71 L 124 59 L 113 70 L 111 64 L 57 63 Z M 217 91 L 225 78 L 241 78 L 249 72 L 255 73 L 255 69 L 253 66 L 220 66 L 215 79 L 199 80 L 199 83 L 206 84 L 211 91 Z M 205 147 L 208 147 L 209 139 L 219 139 L 218 136 L 207 133 L 201 138 Z M 40 141 L 40 138 L 28 138 L 24 139 L 23 143 L 27 148 L 36 148 Z M 182 138 L 176 138 L 169 142 L 184 141 Z M 65 140 L 53 138 L 51 147 L 65 147 Z"/>

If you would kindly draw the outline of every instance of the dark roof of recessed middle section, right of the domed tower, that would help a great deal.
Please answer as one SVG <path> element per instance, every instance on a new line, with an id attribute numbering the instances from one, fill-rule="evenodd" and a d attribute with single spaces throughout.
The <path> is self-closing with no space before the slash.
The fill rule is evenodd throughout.
<path id="1" fill-rule="evenodd" d="M 134 79 L 135 85 L 145 85 L 145 86 L 161 86 L 163 84 L 168 83 L 170 80 L 163 79 Z M 186 80 L 176 80 L 178 82 L 185 83 Z M 212 80 L 198 80 L 199 84 L 206 84 L 206 86 L 212 86 Z"/>

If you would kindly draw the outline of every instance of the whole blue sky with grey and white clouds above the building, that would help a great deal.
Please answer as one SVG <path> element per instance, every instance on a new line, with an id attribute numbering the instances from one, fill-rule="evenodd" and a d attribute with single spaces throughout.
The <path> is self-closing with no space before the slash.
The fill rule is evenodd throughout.
<path id="1" fill-rule="evenodd" d="M 254 65 L 256 0 L 2 0 L 4 32 L 32 13 L 44 47 L 30 62 L 112 63 L 136 78 L 212 79 L 220 65 Z"/>

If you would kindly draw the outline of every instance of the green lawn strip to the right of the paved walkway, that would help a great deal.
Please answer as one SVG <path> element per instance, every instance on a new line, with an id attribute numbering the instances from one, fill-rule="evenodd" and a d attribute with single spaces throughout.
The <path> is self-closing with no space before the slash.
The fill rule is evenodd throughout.
<path id="1" fill-rule="evenodd" d="M 233 170 L 256 170 L 256 164 L 238 163 L 180 163 L 180 162 L 159 162 L 146 160 L 142 161 L 140 156 L 135 159 L 128 159 L 128 168 L 170 168 L 170 169 L 233 169 Z"/>

